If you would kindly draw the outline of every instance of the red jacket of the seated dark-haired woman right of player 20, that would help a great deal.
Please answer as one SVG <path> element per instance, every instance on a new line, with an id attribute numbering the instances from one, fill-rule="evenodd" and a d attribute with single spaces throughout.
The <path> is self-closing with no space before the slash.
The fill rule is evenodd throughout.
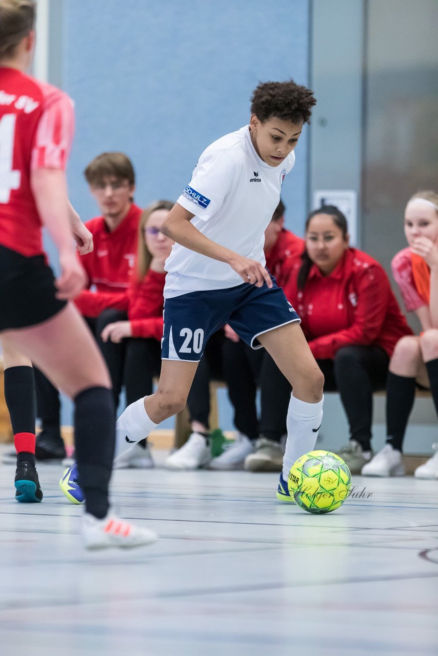
<path id="1" fill-rule="evenodd" d="M 301 317 L 315 359 L 333 359 L 347 344 L 375 344 L 391 356 L 398 340 L 412 335 L 385 270 L 370 255 L 350 248 L 325 277 L 313 264 L 302 291 L 300 266 L 295 262 L 284 292 Z"/>

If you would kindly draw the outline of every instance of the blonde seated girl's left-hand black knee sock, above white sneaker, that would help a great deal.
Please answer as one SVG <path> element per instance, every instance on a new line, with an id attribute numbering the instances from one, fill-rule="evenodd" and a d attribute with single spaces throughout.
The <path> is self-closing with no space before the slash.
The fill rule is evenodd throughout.
<path id="1" fill-rule="evenodd" d="M 388 371 L 386 384 L 386 430 L 388 444 L 402 450 L 412 405 L 415 398 L 415 379 L 397 376 Z"/>

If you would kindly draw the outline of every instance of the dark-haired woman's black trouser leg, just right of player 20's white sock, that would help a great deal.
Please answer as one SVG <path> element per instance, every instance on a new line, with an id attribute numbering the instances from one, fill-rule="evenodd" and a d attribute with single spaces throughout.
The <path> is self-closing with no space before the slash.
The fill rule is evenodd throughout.
<path id="1" fill-rule="evenodd" d="M 334 358 L 334 377 L 350 426 L 350 439 L 370 450 L 372 392 L 384 390 L 389 356 L 379 346 L 343 346 Z"/>

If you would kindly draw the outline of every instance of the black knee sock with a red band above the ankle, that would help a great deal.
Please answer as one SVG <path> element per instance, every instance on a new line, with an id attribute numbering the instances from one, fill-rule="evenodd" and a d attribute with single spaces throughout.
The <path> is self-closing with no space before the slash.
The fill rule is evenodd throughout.
<path id="1" fill-rule="evenodd" d="M 5 401 L 11 417 L 17 451 L 17 464 L 35 466 L 35 386 L 32 367 L 5 369 Z"/>

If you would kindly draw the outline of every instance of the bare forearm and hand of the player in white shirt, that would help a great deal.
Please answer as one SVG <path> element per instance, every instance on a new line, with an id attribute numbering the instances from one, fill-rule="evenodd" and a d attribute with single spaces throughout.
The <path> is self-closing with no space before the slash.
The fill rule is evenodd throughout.
<path id="1" fill-rule="evenodd" d="M 238 255 L 203 235 L 190 223 L 193 217 L 194 214 L 175 203 L 164 220 L 162 232 L 190 251 L 206 255 L 219 262 L 227 262 L 246 283 L 255 284 L 256 287 L 261 287 L 263 283 L 268 287 L 273 286 L 271 277 L 260 262 Z"/>

